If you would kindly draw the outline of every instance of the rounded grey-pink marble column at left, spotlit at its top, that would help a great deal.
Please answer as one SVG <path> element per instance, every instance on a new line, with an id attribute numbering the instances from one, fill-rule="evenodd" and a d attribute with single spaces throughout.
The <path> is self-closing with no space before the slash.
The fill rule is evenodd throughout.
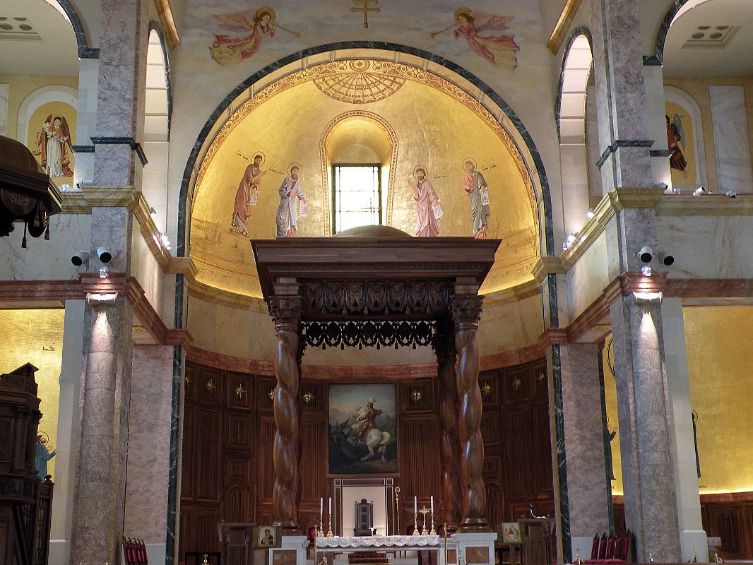
<path id="1" fill-rule="evenodd" d="M 131 387 L 133 306 L 88 306 L 78 469 L 72 516 L 72 563 L 120 562 Z"/>

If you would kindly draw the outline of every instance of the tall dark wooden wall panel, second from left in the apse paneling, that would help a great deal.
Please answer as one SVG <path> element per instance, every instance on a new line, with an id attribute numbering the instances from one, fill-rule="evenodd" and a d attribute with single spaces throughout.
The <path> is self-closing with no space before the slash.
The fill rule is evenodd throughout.
<path id="1" fill-rule="evenodd" d="M 219 502 L 221 495 L 220 465 L 222 463 L 222 414 L 219 411 L 197 410 L 197 439 L 194 492 L 197 500 Z"/>

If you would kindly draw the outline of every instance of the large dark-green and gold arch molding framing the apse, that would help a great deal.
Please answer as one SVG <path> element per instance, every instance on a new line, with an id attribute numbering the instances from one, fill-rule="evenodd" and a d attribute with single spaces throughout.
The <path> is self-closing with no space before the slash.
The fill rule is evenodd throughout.
<path id="1" fill-rule="evenodd" d="M 358 50 L 358 53 L 353 53 Z M 364 51 L 367 51 L 364 53 Z M 382 56 L 380 57 L 380 52 Z M 178 242 L 176 254 L 184 256 L 186 253 L 189 205 L 193 199 L 194 185 L 199 173 L 199 166 L 209 146 L 215 139 L 215 136 L 221 130 L 221 127 L 227 120 L 233 119 L 233 108 L 239 108 L 244 102 L 251 99 L 261 88 L 272 84 L 280 78 L 300 71 L 301 62 L 305 64 L 309 57 L 319 55 L 320 53 L 329 53 L 328 60 L 353 59 L 354 57 L 368 57 L 384 60 L 392 60 L 395 63 L 405 63 L 410 66 L 416 65 L 416 58 L 424 60 L 424 68 L 431 66 L 431 72 L 444 78 L 450 83 L 450 87 L 456 89 L 458 93 L 470 96 L 477 103 L 489 112 L 489 115 L 498 124 L 498 127 L 509 136 L 517 148 L 518 154 L 523 159 L 522 166 L 525 168 L 526 175 L 532 185 L 535 199 L 535 209 L 538 210 L 538 225 L 540 230 L 541 255 L 553 255 L 553 223 L 551 214 L 551 197 L 550 188 L 547 181 L 547 175 L 544 170 L 544 163 L 533 142 L 532 137 L 515 115 L 510 106 L 492 90 L 487 84 L 477 78 L 468 70 L 444 59 L 441 56 L 434 55 L 428 51 L 409 47 L 407 45 L 386 43 L 380 41 L 341 41 L 331 44 L 323 44 L 317 47 L 300 50 L 297 53 L 291 53 L 283 57 L 276 63 L 264 67 L 254 75 L 249 77 L 242 84 L 233 89 L 225 99 L 218 105 L 212 115 L 204 124 L 200 131 L 194 148 L 191 151 L 186 163 L 181 182 L 180 195 L 178 198 Z M 401 61 L 401 54 L 404 61 Z M 321 56 L 317 61 L 326 60 Z M 220 118 L 225 115 L 224 121 Z"/>

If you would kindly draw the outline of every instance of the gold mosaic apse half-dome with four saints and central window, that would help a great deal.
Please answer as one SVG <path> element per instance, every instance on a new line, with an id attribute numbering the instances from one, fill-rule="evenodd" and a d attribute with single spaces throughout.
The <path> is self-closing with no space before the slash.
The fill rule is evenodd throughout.
<path id="1" fill-rule="evenodd" d="M 261 296 L 250 240 L 367 224 L 498 238 L 481 291 L 532 279 L 538 212 L 526 164 L 498 119 L 447 79 L 386 60 L 322 63 L 261 88 L 225 119 L 194 185 L 201 286 Z"/>

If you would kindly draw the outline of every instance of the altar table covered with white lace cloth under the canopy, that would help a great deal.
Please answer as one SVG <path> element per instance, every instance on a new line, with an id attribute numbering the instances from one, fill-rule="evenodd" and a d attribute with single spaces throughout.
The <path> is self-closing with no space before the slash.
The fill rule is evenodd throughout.
<path id="1" fill-rule="evenodd" d="M 440 536 L 322 536 L 316 538 L 316 547 L 327 554 L 328 563 L 334 554 L 352 551 L 435 551 L 437 565 L 445 565 Z"/>

